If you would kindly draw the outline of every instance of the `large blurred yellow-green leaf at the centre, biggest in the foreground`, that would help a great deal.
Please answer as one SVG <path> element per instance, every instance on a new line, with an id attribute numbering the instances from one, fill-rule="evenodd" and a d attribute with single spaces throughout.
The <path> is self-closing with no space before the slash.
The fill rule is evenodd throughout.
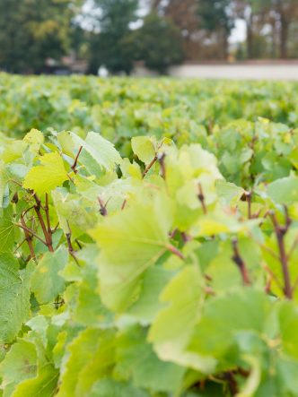
<path id="1" fill-rule="evenodd" d="M 153 203 L 135 203 L 106 217 L 92 230 L 101 248 L 101 298 L 105 305 L 121 311 L 133 303 L 143 273 L 165 252 L 170 229 L 171 211 L 159 196 Z"/>

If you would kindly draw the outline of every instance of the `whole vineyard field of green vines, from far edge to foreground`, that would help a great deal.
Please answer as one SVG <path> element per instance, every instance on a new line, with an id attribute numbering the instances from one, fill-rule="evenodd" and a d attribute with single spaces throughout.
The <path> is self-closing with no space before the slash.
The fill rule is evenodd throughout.
<path id="1" fill-rule="evenodd" d="M 0 99 L 0 396 L 298 396 L 298 83 Z"/>

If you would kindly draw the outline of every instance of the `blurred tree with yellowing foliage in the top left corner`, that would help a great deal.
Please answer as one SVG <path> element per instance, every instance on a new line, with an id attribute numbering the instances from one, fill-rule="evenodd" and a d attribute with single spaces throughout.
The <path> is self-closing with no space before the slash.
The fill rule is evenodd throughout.
<path id="1" fill-rule="evenodd" d="M 65 55 L 78 3 L 0 0 L 0 67 L 13 73 L 39 73 L 48 57 Z"/>

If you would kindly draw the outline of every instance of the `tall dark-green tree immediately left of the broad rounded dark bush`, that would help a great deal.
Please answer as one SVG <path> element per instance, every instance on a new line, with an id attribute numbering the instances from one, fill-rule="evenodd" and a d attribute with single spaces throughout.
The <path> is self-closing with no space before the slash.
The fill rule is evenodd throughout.
<path id="1" fill-rule="evenodd" d="M 130 73 L 133 60 L 127 56 L 123 39 L 130 33 L 130 23 L 136 21 L 137 0 L 96 0 L 96 6 L 99 31 L 92 33 L 89 72 L 97 73 L 105 65 L 111 73 Z"/>

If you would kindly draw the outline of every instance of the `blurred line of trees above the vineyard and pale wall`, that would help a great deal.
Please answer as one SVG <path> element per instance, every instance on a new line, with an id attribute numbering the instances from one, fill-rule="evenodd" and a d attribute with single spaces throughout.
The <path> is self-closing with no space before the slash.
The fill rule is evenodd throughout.
<path id="1" fill-rule="evenodd" d="M 239 63 L 297 73 L 296 59 L 298 0 L 0 0 L 9 73 L 183 75 Z"/>

